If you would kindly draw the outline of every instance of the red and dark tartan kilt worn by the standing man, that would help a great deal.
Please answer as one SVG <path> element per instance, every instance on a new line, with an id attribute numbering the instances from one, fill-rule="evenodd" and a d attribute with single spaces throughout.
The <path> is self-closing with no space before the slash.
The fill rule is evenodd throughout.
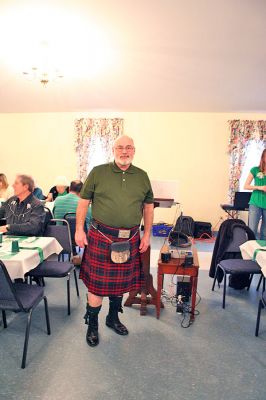
<path id="1" fill-rule="evenodd" d="M 117 231 L 116 228 L 111 228 Z M 113 242 L 124 241 L 117 236 L 105 235 Z M 110 257 L 110 242 L 95 228 L 88 233 L 88 246 L 85 249 L 80 267 L 80 279 L 88 291 L 97 296 L 121 296 L 131 290 L 141 290 L 144 275 L 140 264 L 140 234 L 130 240 L 130 259 L 123 264 L 115 264 Z"/>

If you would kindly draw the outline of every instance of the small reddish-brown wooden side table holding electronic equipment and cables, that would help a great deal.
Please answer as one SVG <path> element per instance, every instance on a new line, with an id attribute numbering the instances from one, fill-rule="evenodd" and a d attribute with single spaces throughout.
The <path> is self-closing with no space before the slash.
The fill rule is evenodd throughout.
<path id="1" fill-rule="evenodd" d="M 191 282 L 191 314 L 190 321 L 194 321 L 195 318 L 195 305 L 196 305 L 196 295 L 197 295 L 197 284 L 198 284 L 198 272 L 199 272 L 199 262 L 197 249 L 193 246 L 193 265 L 189 267 L 184 267 L 182 264 L 185 261 L 185 257 L 181 258 L 171 258 L 168 263 L 163 263 L 161 260 L 158 262 L 157 271 L 157 301 L 156 301 L 156 316 L 160 318 L 161 312 L 161 293 L 163 289 L 163 278 L 165 274 L 171 275 L 185 275 L 190 277 Z"/>

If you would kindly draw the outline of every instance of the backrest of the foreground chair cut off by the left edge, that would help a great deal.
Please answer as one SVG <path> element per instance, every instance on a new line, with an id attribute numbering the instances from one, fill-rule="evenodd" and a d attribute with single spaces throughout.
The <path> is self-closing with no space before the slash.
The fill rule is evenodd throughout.
<path id="1" fill-rule="evenodd" d="M 7 272 L 5 264 L 0 260 L 0 309 L 21 311 L 24 310 L 16 296 L 14 285 Z"/>

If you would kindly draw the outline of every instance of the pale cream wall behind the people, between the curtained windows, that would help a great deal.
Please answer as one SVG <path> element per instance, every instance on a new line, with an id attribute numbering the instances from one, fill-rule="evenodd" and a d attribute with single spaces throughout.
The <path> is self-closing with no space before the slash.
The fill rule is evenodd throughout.
<path id="1" fill-rule="evenodd" d="M 31 174 L 45 193 L 57 175 L 77 178 L 74 120 L 122 117 L 135 140 L 134 163 L 151 179 L 177 180 L 186 215 L 214 225 L 227 201 L 229 119 L 265 119 L 266 114 L 223 113 L 40 113 L 0 114 L 1 171 L 12 183 Z M 171 222 L 175 209 L 157 209 L 155 219 Z"/>

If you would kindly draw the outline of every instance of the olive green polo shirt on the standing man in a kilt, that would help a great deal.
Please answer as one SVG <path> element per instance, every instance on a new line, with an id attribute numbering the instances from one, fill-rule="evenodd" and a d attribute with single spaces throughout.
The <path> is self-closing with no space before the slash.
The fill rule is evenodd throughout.
<path id="1" fill-rule="evenodd" d="M 92 201 L 94 219 L 116 228 L 139 225 L 143 203 L 153 203 L 147 173 L 132 164 L 122 171 L 114 162 L 92 169 L 80 197 Z"/>

